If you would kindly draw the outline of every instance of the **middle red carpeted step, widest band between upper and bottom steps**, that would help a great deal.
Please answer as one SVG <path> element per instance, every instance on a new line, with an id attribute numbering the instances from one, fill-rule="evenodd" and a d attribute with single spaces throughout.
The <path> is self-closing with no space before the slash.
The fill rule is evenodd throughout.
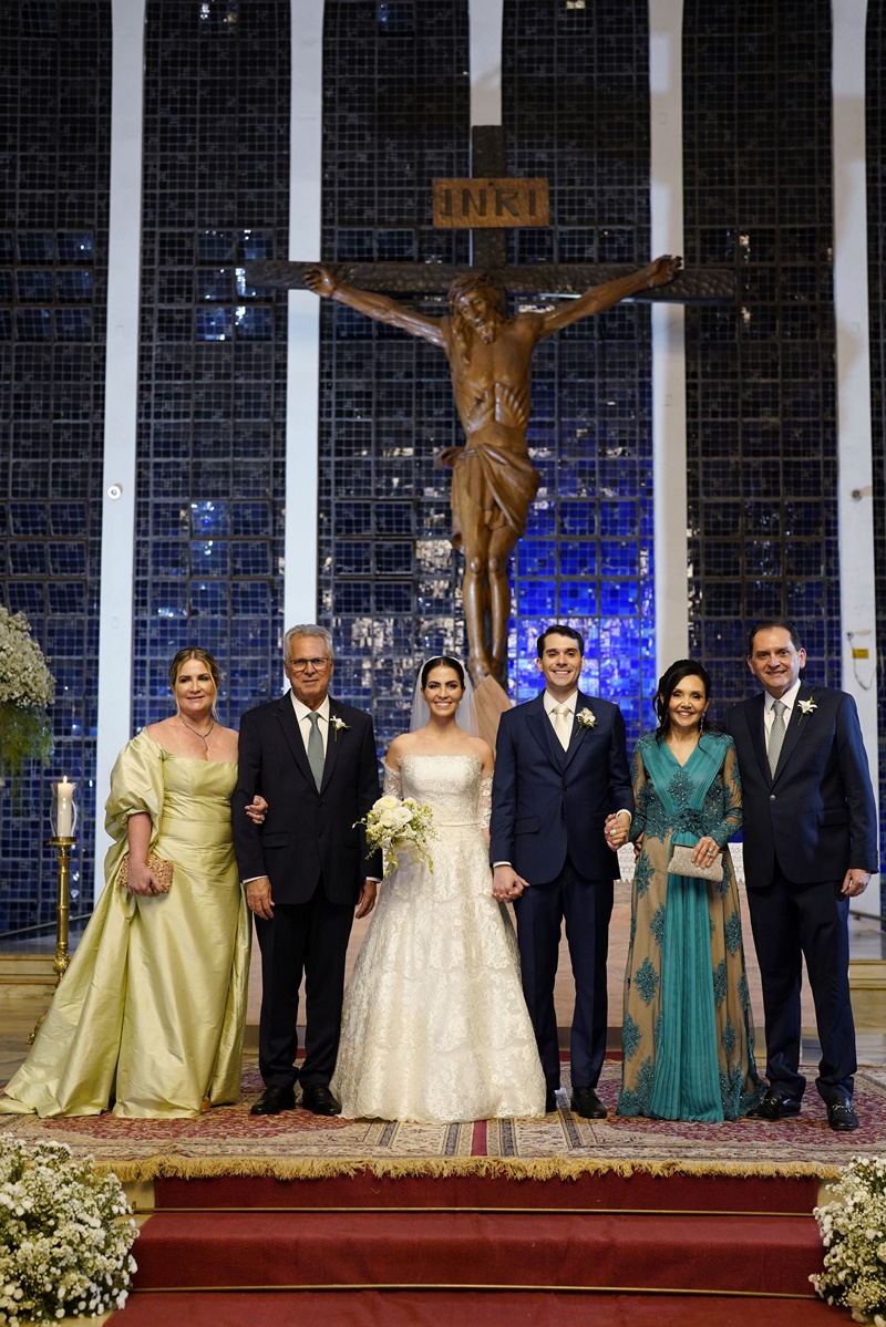
<path id="1" fill-rule="evenodd" d="M 812 1216 L 161 1212 L 137 1289 L 531 1286 L 808 1294 Z"/>

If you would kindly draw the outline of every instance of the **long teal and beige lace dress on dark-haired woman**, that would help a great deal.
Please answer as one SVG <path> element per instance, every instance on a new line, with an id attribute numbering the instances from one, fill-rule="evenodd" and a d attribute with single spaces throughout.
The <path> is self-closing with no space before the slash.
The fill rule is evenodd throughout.
<path id="1" fill-rule="evenodd" d="M 741 827 L 732 738 L 708 733 L 685 764 L 650 734 L 634 752 L 643 835 L 631 896 L 618 1113 L 659 1120 L 735 1120 L 765 1087 L 753 1023 L 741 913 L 727 847 Z M 723 881 L 668 874 L 673 844 L 703 835 L 723 849 Z"/>

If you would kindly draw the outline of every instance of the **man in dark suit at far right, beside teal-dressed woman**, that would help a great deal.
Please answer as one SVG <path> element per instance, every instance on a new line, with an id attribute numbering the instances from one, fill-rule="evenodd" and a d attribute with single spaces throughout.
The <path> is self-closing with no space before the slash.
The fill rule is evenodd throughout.
<path id="1" fill-rule="evenodd" d="M 760 622 L 748 640 L 748 667 L 762 695 L 727 719 L 744 790 L 744 869 L 766 1019 L 769 1091 L 752 1115 L 781 1120 L 800 1111 L 805 955 L 821 1043 L 818 1092 L 830 1128 L 847 1132 L 858 1128 L 849 900 L 878 867 L 877 807 L 855 702 L 801 682 L 805 662 L 790 622 Z"/>

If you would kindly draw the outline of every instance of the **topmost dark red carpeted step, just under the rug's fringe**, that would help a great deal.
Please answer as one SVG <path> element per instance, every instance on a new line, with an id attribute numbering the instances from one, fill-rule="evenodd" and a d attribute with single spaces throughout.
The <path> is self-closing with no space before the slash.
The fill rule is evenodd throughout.
<path id="1" fill-rule="evenodd" d="M 644 1212 L 796 1212 L 817 1202 L 814 1176 L 584 1172 L 574 1178 L 506 1174 L 377 1176 L 371 1169 L 320 1180 L 214 1176 L 154 1181 L 161 1208 L 607 1208 Z"/>

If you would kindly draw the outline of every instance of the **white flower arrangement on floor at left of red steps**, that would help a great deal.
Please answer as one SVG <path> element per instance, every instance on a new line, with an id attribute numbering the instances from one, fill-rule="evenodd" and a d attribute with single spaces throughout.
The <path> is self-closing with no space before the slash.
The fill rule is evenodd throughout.
<path id="1" fill-rule="evenodd" d="M 124 1186 L 92 1157 L 73 1161 L 66 1143 L 0 1140 L 0 1322 L 122 1308 L 137 1235 Z"/>

